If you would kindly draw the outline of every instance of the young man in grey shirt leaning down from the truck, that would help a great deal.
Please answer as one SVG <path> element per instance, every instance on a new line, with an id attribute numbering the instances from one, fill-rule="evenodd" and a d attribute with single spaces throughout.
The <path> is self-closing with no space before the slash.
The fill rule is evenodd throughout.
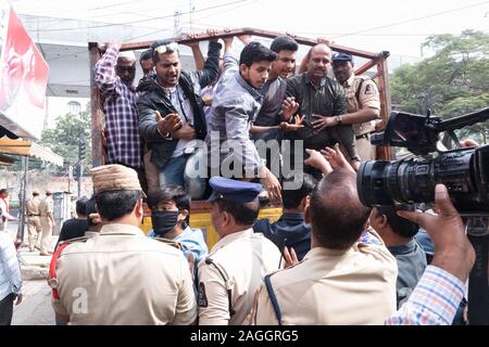
<path id="1" fill-rule="evenodd" d="M 280 183 L 260 158 L 249 130 L 263 101 L 259 90 L 266 82 L 276 57 L 273 51 L 259 42 L 250 42 L 244 47 L 239 59 L 239 69 L 227 69 L 216 86 L 205 139 L 210 146 L 211 176 L 230 178 L 229 174 L 223 172 L 225 165 L 222 165 L 223 160 L 230 158 L 235 166 L 240 166 L 234 167 L 234 172 L 242 167 L 247 178 L 256 177 L 258 174 L 271 198 L 279 198 Z M 242 177 L 239 174 L 235 177 Z"/>

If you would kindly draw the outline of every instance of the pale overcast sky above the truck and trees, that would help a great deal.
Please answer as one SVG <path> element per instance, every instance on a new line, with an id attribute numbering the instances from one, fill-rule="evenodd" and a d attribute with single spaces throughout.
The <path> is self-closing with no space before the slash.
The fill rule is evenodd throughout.
<path id="1" fill-rule="evenodd" d="M 131 23 L 173 30 L 179 27 L 255 27 L 324 37 L 338 44 L 368 51 L 422 57 L 429 35 L 489 31 L 489 1 L 317 1 L 317 0 L 10 0 L 20 14 L 78 18 L 109 24 Z M 192 9 L 192 11 L 190 11 Z M 70 30 L 59 23 L 41 30 Z M 97 28 L 93 28 L 97 30 Z M 128 38 L 130 39 L 130 38 Z M 136 41 L 143 40 L 145 37 Z M 422 55 L 423 54 L 423 55 Z"/>

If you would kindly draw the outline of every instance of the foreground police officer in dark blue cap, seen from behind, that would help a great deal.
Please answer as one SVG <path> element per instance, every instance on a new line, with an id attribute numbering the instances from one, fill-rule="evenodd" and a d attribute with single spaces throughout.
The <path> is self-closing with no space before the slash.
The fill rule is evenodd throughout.
<path id="1" fill-rule="evenodd" d="M 261 184 L 221 177 L 210 184 L 212 223 L 221 240 L 199 262 L 199 324 L 239 325 L 251 312 L 262 278 L 278 269 L 280 253 L 252 230 Z"/>

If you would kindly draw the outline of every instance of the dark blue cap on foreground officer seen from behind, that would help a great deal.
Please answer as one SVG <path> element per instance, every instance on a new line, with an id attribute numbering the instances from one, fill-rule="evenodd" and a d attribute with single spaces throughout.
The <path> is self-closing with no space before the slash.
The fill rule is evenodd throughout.
<path id="1" fill-rule="evenodd" d="M 223 177 L 212 177 L 209 180 L 213 192 L 210 202 L 223 198 L 236 203 L 251 203 L 259 201 L 259 194 L 263 190 L 262 184 L 231 180 Z"/>

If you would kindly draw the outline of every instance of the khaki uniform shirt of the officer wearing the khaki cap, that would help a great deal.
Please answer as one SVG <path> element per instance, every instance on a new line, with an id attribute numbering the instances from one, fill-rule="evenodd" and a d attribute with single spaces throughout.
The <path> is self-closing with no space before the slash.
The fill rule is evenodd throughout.
<path id="1" fill-rule="evenodd" d="M 106 224 L 62 249 L 52 300 L 70 324 L 191 324 L 197 304 L 188 262 L 176 247 L 127 224 Z"/>

